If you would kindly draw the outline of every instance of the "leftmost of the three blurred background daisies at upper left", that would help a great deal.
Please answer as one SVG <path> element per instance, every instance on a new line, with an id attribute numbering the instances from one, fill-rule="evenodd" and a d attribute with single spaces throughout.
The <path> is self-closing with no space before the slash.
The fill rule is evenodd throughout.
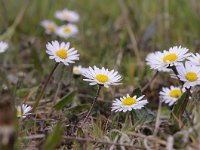
<path id="1" fill-rule="evenodd" d="M 47 34 L 55 33 L 57 29 L 57 25 L 49 20 L 43 20 L 41 26 L 45 28 Z"/>

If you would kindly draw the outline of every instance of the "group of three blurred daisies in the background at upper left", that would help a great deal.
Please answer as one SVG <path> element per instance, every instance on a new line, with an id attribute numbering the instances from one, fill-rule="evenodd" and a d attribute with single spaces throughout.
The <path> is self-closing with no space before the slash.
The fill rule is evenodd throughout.
<path id="1" fill-rule="evenodd" d="M 62 22 L 64 25 L 58 26 L 55 22 L 50 20 L 43 20 L 41 26 L 44 27 L 47 34 L 54 34 L 62 38 L 74 37 L 78 33 L 78 27 L 73 24 L 79 21 L 79 14 L 75 11 L 68 9 L 60 10 L 55 12 L 55 17 Z"/>

